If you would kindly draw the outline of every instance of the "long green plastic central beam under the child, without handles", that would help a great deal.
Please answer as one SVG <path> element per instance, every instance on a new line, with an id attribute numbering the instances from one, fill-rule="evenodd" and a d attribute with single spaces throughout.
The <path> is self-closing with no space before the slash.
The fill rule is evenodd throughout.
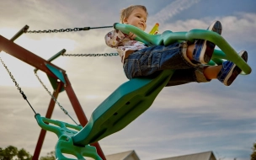
<path id="1" fill-rule="evenodd" d="M 129 125 L 152 105 L 172 74 L 172 70 L 166 70 L 157 77 L 134 78 L 120 85 L 93 111 L 83 130 L 72 136 L 74 144 L 99 141 Z"/>

